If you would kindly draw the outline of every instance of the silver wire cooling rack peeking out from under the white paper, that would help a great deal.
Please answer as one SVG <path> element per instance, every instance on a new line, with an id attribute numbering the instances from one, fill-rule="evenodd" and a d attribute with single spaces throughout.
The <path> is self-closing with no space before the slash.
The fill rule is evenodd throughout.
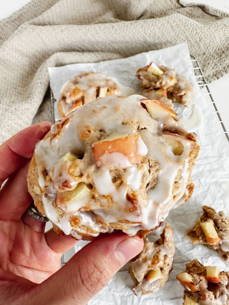
<path id="1" fill-rule="evenodd" d="M 220 113 L 217 109 L 217 106 L 216 106 L 216 102 L 214 101 L 213 99 L 213 96 L 212 96 L 212 93 L 208 87 L 208 83 L 206 81 L 206 78 L 203 74 L 203 71 L 202 71 L 202 68 L 200 66 L 200 63 L 198 61 L 198 59 L 190 54 L 190 57 L 191 57 L 191 62 L 193 64 L 193 69 L 194 69 L 194 73 L 195 73 L 195 77 L 196 77 L 196 81 L 198 83 L 198 86 L 201 88 L 201 91 L 202 91 L 202 94 L 203 95 L 208 95 L 209 97 L 209 101 L 206 101 L 207 104 L 212 104 L 213 105 L 213 111 L 212 113 L 216 113 L 217 117 L 218 117 L 218 123 L 221 124 L 222 128 L 223 128 L 223 133 L 225 134 L 226 138 L 227 138 L 227 141 L 229 142 L 229 136 L 228 136 L 228 133 L 227 133 L 227 130 L 224 126 L 224 122 L 223 120 L 221 119 L 220 117 Z M 54 113 L 54 102 L 55 102 L 55 99 L 54 99 L 54 96 L 53 96 L 53 91 L 50 90 L 50 94 L 51 94 L 51 113 L 52 113 L 52 120 L 53 120 L 53 124 L 55 122 L 55 113 Z M 207 100 L 207 99 L 206 99 Z M 63 254 L 63 256 L 61 257 L 61 266 L 64 266 L 64 264 L 67 263 L 67 260 L 74 254 L 73 251 L 71 250 L 71 253 L 67 253 L 65 252 Z M 68 259 L 67 259 L 68 257 Z"/>

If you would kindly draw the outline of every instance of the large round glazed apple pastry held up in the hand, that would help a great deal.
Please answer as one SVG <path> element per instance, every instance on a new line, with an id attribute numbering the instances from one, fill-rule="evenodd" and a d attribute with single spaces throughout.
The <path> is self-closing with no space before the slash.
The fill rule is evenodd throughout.
<path id="1" fill-rule="evenodd" d="M 38 143 L 28 189 L 58 234 L 145 236 L 191 197 L 196 135 L 141 95 L 108 96 L 57 121 Z"/>

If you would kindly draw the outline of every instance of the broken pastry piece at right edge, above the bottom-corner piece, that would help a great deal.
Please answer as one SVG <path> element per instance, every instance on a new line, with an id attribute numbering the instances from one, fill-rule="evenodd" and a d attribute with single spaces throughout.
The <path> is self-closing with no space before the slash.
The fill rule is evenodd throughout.
<path id="1" fill-rule="evenodd" d="M 202 206 L 203 215 L 194 227 L 188 230 L 193 244 L 202 244 L 229 262 L 229 218 L 220 211 L 216 213 L 212 207 Z"/>

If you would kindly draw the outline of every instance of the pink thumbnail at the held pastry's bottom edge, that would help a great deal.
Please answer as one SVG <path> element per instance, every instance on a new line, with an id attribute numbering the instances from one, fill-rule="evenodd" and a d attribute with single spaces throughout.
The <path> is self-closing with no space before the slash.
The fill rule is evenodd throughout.
<path id="1" fill-rule="evenodd" d="M 128 262 L 143 249 L 144 242 L 139 237 L 128 237 L 117 245 L 116 253 L 123 262 Z"/>

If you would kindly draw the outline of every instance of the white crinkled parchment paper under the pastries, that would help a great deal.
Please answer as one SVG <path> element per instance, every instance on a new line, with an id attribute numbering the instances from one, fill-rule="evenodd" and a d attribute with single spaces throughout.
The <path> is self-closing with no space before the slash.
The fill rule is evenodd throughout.
<path id="1" fill-rule="evenodd" d="M 173 237 L 176 246 L 173 271 L 168 281 L 158 292 L 146 294 L 138 298 L 129 288 L 132 285 L 127 267 L 122 268 L 114 278 L 102 289 L 89 305 L 180 305 L 183 302 L 183 287 L 176 281 L 176 274 L 184 270 L 185 263 L 197 258 L 204 265 L 218 265 L 220 270 L 227 270 L 225 263 L 217 253 L 201 245 L 193 246 L 186 236 L 188 228 L 192 228 L 196 219 L 202 215 L 202 205 L 214 207 L 217 211 L 224 210 L 229 215 L 229 143 L 223 133 L 218 118 L 212 113 L 213 106 L 207 104 L 194 75 L 193 65 L 190 60 L 187 44 L 183 43 L 170 48 L 150 51 L 131 56 L 125 59 L 115 59 L 100 63 L 78 63 L 62 67 L 49 68 L 50 86 L 55 99 L 58 101 L 61 88 L 65 82 L 75 75 L 94 71 L 105 73 L 120 84 L 123 95 L 139 93 L 140 81 L 135 77 L 136 70 L 149 64 L 151 61 L 157 65 L 165 65 L 176 69 L 194 85 L 194 101 L 187 109 L 176 106 L 178 117 L 188 124 L 188 131 L 196 132 L 201 146 L 196 165 L 192 171 L 195 184 L 191 199 L 178 208 L 171 210 L 166 221 L 173 228 Z M 55 118 L 59 119 L 56 111 Z M 155 239 L 162 231 L 156 230 Z M 78 251 L 86 242 L 78 242 L 75 250 Z"/>

